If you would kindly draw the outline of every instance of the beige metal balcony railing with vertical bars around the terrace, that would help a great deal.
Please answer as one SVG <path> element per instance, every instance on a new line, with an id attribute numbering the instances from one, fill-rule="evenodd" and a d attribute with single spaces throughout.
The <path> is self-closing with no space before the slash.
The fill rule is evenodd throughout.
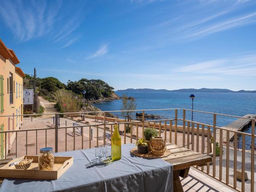
<path id="1" fill-rule="evenodd" d="M 28 133 L 33 133 L 35 140 L 35 154 L 38 154 L 39 136 L 45 132 L 44 143 L 47 146 L 47 132 L 48 137 L 54 137 L 54 149 L 55 152 L 68 151 L 68 150 L 78 150 L 84 148 L 91 148 L 94 142 L 95 147 L 100 145 L 110 144 L 108 143 L 108 137 L 112 136 L 114 122 L 118 122 L 119 132 L 122 136 L 122 142 L 125 143 L 135 143 L 138 138 L 143 137 L 143 130 L 146 127 L 154 127 L 159 130 L 159 135 L 163 136 L 167 142 L 175 143 L 176 145 L 181 145 L 188 149 L 200 152 L 202 154 L 210 155 L 212 154 L 212 163 L 207 163 L 205 166 L 196 167 L 198 170 L 206 173 L 207 175 L 219 180 L 220 182 L 236 189 L 237 191 L 245 191 L 250 188 L 251 192 L 254 192 L 254 174 L 255 174 L 255 119 L 246 118 L 241 116 L 225 115 L 220 113 L 210 113 L 204 111 L 193 111 L 198 114 L 208 114 L 212 116 L 212 125 L 191 121 L 186 119 L 186 113 L 191 113 L 192 110 L 188 109 L 157 109 L 157 110 L 135 110 L 136 112 L 143 113 L 142 120 L 132 120 L 131 122 L 125 122 L 124 119 L 107 118 L 106 113 L 116 113 L 122 111 L 99 111 L 99 112 L 78 112 L 78 113 L 48 113 L 43 115 L 53 115 L 54 122 L 53 127 L 47 128 L 33 128 L 33 129 L 20 129 L 20 130 L 10 130 L 10 131 L 0 131 L 0 134 L 4 134 L 4 141 L 7 140 L 9 134 L 14 134 L 14 142 L 12 148 L 15 148 L 15 156 L 27 155 L 28 154 Z M 135 112 L 131 111 L 131 112 Z M 157 119 L 157 120 L 146 120 L 145 111 L 172 111 L 174 118 L 167 119 Z M 99 116 L 89 115 L 103 114 L 101 118 Z M 58 117 L 60 115 L 81 115 L 84 114 L 86 118 L 90 118 L 90 124 L 67 126 L 67 121 L 65 126 L 60 126 L 58 122 Z M 26 115 L 35 116 L 36 114 Z M 181 115 L 181 118 L 179 116 Z M 16 115 L 10 115 L 12 117 Z M 25 115 L 18 115 L 25 116 Z M 218 127 L 217 116 L 227 116 L 233 118 L 244 118 L 251 121 L 252 131 L 251 134 L 244 133 L 240 131 L 235 131 L 232 129 Z M 1 118 L 6 118 L 9 116 L 0 116 Z M 99 122 L 99 119 L 102 122 Z M 97 122 L 98 120 L 98 122 Z M 91 124 L 92 123 L 92 124 Z M 131 127 L 130 133 L 126 133 L 126 126 Z M 70 129 L 72 130 L 70 132 Z M 79 130 L 77 130 L 79 129 Z M 64 132 L 63 132 L 64 131 Z M 26 140 L 19 140 L 19 135 L 25 133 Z M 81 133 L 79 135 L 79 133 Z M 96 134 L 96 137 L 93 137 Z M 67 135 L 73 135 L 73 139 L 70 139 Z M 76 137 L 79 135 L 79 137 Z M 103 141 L 102 137 L 103 135 Z M 86 142 L 84 138 L 87 138 Z M 42 140 L 42 137 L 40 137 Z M 31 137 L 29 138 L 31 140 Z M 250 140 L 250 150 L 246 150 L 246 140 Z M 19 143 L 24 143 L 26 148 L 23 148 Z M 49 142 L 49 139 L 48 139 Z M 240 143 L 241 142 L 241 146 Z M 78 144 L 79 143 L 79 144 Z M 85 146 L 84 143 L 87 143 Z M 219 144 L 216 145 L 216 144 Z M 73 148 L 70 146 L 73 145 Z M 247 142 L 248 145 L 248 142 Z M 4 158 L 7 158 L 7 151 L 9 146 L 7 142 L 4 142 Z M 188 157 L 189 158 L 189 157 Z M 241 169 L 241 170 L 240 170 Z M 241 182 L 237 181 L 237 173 L 241 172 Z M 247 173 L 246 173 L 247 172 Z M 245 183 L 245 174 L 248 174 L 249 181 Z"/>

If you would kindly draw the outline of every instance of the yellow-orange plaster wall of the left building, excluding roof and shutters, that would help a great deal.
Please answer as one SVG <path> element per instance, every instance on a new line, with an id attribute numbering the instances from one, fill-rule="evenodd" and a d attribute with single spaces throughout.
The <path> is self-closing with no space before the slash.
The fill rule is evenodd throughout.
<path id="1" fill-rule="evenodd" d="M 15 84 L 14 87 L 14 94 L 13 94 L 13 103 L 10 103 L 10 84 L 7 83 L 7 80 L 9 81 L 9 74 L 12 73 L 13 75 L 13 81 L 12 84 Z M 3 75 L 3 113 L 2 115 L 16 115 L 17 114 L 23 114 L 23 78 L 15 71 L 15 64 L 10 59 L 5 59 L 2 55 L 0 55 L 0 75 Z M 17 82 L 17 91 L 16 91 L 16 82 Z M 9 84 L 9 90 L 7 90 L 7 84 Z M 19 84 L 20 84 L 20 90 L 19 90 Z M 20 111 L 20 112 L 19 112 Z M 0 125 L 3 123 L 4 125 L 4 131 L 8 130 L 17 130 L 19 129 L 20 125 L 22 124 L 23 119 L 21 117 L 0 117 Z M 1 137 L 0 137 L 1 139 Z M 4 139 L 4 146 L 6 143 L 6 154 L 8 154 L 8 149 L 12 145 L 13 140 L 15 139 L 15 134 L 9 133 L 7 134 L 7 138 L 5 141 L 5 135 L 3 134 Z M 0 141 L 1 143 L 1 141 Z M 5 148 L 5 147 L 4 147 Z M 1 149 L 0 149 L 1 150 Z M 1 151 L 0 151 L 1 152 Z M 1 154 L 1 153 L 0 153 Z M 5 151 L 4 153 L 5 154 Z M 0 157 L 1 158 L 1 157 Z M 5 158 L 5 157 L 2 157 Z"/>

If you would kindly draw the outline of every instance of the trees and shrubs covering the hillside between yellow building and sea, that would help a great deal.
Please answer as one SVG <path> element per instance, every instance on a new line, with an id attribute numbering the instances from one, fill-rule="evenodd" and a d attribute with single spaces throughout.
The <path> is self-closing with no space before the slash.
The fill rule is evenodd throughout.
<path id="1" fill-rule="evenodd" d="M 55 77 L 34 78 L 26 74 L 23 78 L 23 86 L 32 89 L 36 86 L 36 92 L 50 102 L 57 102 L 55 107 L 61 112 L 80 111 L 82 108 L 82 91 L 86 90 L 87 101 L 99 99 L 119 99 L 114 93 L 114 88 L 100 79 L 80 79 L 79 81 L 68 81 L 67 85 Z M 68 105 L 63 108 L 63 104 Z"/>

